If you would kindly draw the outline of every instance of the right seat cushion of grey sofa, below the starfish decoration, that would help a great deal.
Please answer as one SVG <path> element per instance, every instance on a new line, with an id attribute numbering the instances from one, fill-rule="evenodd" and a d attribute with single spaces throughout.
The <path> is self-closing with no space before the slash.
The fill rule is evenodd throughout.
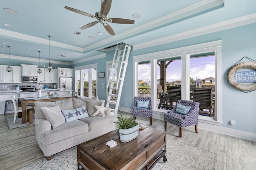
<path id="1" fill-rule="evenodd" d="M 101 127 L 110 125 L 110 123 L 113 123 L 113 121 L 116 121 L 116 117 L 107 116 L 107 115 L 102 117 L 100 115 L 96 115 L 96 116 L 89 116 L 86 118 L 82 118 L 80 119 L 80 121 L 83 121 L 89 125 L 89 131 L 94 131 Z"/>

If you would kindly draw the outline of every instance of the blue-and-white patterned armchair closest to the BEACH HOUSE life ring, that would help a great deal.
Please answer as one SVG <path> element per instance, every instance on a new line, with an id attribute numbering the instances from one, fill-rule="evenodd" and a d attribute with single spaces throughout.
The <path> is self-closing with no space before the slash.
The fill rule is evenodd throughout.
<path id="1" fill-rule="evenodd" d="M 191 106 L 190 111 L 186 114 L 175 113 L 177 104 L 182 104 L 184 106 Z M 182 127 L 195 125 L 195 130 L 197 132 L 198 125 L 198 113 L 199 113 L 199 103 L 192 102 L 188 100 L 178 100 L 176 106 L 164 113 L 164 129 L 166 129 L 167 122 L 172 123 L 180 127 L 180 137 L 182 137 Z"/>

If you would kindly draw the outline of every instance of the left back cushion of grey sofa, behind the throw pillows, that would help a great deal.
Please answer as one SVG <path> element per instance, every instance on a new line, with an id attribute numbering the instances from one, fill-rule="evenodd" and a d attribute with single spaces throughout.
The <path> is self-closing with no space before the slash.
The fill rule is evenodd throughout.
<path id="1" fill-rule="evenodd" d="M 59 106 L 60 110 L 66 110 L 66 109 L 74 109 L 73 108 L 73 102 L 72 98 L 69 98 L 67 100 L 60 100 L 57 102 L 34 102 L 35 104 L 35 119 L 46 119 L 44 116 L 44 113 L 41 110 L 41 107 L 52 107 L 52 106 Z"/>

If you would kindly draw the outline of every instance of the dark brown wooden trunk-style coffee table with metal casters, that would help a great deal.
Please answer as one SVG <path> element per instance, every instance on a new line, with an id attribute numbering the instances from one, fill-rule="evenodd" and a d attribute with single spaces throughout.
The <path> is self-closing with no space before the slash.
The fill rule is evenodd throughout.
<path id="1" fill-rule="evenodd" d="M 116 141 L 110 148 L 106 143 Z M 164 150 L 163 150 L 164 148 Z M 77 146 L 78 169 L 85 170 L 150 170 L 163 157 L 166 162 L 166 132 L 143 127 L 138 138 L 122 143 L 118 133 L 105 135 Z"/>

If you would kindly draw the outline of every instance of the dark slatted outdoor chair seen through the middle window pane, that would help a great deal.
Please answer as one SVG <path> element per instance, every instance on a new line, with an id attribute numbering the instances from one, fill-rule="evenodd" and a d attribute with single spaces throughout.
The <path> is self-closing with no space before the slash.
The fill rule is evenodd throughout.
<path id="1" fill-rule="evenodd" d="M 167 86 L 168 98 L 170 102 L 169 109 L 172 109 L 173 102 L 181 100 L 181 86 Z"/>

